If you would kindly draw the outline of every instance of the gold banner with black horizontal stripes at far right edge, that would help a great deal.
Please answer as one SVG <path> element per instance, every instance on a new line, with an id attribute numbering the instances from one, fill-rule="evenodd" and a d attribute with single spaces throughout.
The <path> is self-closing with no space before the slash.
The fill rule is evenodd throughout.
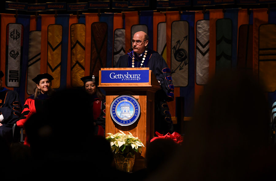
<path id="1" fill-rule="evenodd" d="M 259 79 L 264 91 L 276 91 L 276 25 L 259 27 Z"/>

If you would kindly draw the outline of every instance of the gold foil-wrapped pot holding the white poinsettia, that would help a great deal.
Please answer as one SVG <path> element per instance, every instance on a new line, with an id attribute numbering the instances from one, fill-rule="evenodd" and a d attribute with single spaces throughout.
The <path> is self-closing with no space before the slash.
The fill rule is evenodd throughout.
<path id="1" fill-rule="evenodd" d="M 133 157 L 125 158 L 125 157 L 114 157 L 115 159 L 115 165 L 117 170 L 121 171 L 127 171 L 131 172 L 133 165 L 134 165 L 134 160 L 135 160 L 135 155 Z"/>

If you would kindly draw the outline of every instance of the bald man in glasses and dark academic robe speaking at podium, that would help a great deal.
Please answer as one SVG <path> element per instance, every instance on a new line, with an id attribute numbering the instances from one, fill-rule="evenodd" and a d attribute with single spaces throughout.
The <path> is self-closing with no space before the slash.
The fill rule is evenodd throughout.
<path id="1" fill-rule="evenodd" d="M 167 105 L 167 102 L 174 100 L 171 70 L 158 52 L 147 49 L 149 43 L 147 33 L 136 32 L 131 41 L 133 50 L 120 56 L 115 68 L 149 67 L 162 88 L 155 93 L 155 131 L 159 133 L 173 132 L 171 114 Z"/>

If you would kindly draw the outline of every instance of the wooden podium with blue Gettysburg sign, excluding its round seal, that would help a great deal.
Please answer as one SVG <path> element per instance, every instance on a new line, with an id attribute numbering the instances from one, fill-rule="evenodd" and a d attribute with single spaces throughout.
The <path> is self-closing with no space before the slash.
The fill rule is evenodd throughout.
<path id="1" fill-rule="evenodd" d="M 106 91 L 105 133 L 121 130 L 138 137 L 145 148 L 141 156 L 136 154 L 133 171 L 145 168 L 147 144 L 154 137 L 154 94 L 161 89 L 155 75 L 149 68 L 101 68 L 98 87 Z M 131 95 L 140 105 L 140 116 L 131 125 L 119 125 L 111 117 L 110 106 L 121 95 Z"/>

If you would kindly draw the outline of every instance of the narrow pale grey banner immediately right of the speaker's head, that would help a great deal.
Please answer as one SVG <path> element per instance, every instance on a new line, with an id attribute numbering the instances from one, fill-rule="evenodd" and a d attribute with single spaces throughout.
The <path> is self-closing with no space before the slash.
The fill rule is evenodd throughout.
<path id="1" fill-rule="evenodd" d="M 167 60 L 166 22 L 157 25 L 157 52 Z"/>

